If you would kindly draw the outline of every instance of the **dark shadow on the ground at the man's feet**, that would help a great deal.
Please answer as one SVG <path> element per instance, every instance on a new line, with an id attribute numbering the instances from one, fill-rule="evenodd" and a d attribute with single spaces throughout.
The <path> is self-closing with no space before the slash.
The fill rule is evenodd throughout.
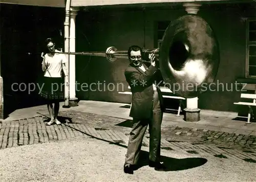
<path id="1" fill-rule="evenodd" d="M 148 156 L 148 152 L 140 152 L 140 159 L 137 169 L 148 165 Z M 207 162 L 207 160 L 206 158 L 200 157 L 172 158 L 167 156 L 161 156 L 161 162 L 163 162 L 164 166 L 166 166 L 165 171 L 181 171 L 202 166 Z"/>

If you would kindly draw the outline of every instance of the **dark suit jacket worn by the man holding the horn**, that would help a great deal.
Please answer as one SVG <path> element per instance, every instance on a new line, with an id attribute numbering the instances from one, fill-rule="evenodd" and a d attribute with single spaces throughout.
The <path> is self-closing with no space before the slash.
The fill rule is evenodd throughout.
<path id="1" fill-rule="evenodd" d="M 150 118 L 152 116 L 153 107 L 153 83 L 161 80 L 160 71 L 150 65 L 145 67 L 143 72 L 139 67 L 130 64 L 124 72 L 126 81 L 129 83 L 132 91 L 132 107 L 130 117 L 133 118 Z M 144 84 L 143 84 L 144 83 Z M 161 90 L 157 87 L 161 110 L 164 111 L 163 97 Z"/>

